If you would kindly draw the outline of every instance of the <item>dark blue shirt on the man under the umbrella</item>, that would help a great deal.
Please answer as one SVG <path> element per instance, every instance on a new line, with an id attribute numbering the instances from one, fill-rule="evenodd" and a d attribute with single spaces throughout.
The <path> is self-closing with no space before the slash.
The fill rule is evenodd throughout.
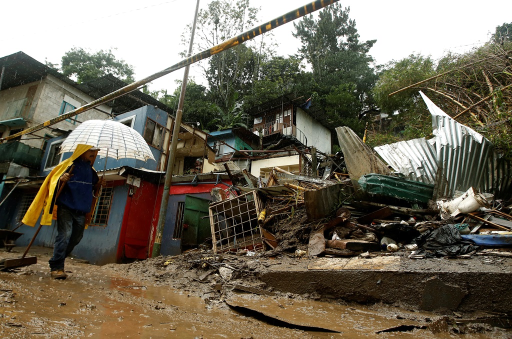
<path id="1" fill-rule="evenodd" d="M 91 166 L 90 161 L 81 158 L 73 161 L 75 168 L 71 179 L 64 185 L 57 197 L 57 205 L 89 213 L 93 202 L 94 185 L 98 182 L 98 175 Z"/>

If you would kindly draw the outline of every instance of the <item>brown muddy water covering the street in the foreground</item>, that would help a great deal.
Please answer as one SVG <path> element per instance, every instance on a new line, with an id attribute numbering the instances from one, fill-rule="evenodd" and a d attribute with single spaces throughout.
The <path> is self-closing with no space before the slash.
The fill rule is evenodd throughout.
<path id="1" fill-rule="evenodd" d="M 394 307 L 233 292 L 224 295 L 227 307 L 170 288 L 102 277 L 94 269 L 56 281 L 44 266 L 34 268 L 0 272 L 0 337 L 488 337 L 434 334 L 424 325 L 436 315 Z"/>

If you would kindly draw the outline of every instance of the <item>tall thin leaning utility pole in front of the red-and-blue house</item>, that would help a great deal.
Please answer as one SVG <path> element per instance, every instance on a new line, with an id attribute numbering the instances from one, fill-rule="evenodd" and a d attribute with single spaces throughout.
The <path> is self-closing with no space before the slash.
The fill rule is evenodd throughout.
<path id="1" fill-rule="evenodd" d="M 188 45 L 187 57 L 190 57 L 190 55 L 192 55 L 192 47 L 194 45 L 194 34 L 196 32 L 198 13 L 199 13 L 199 0 L 197 0 L 197 4 L 196 4 L 196 14 L 194 15 L 194 23 L 192 24 L 192 31 L 191 31 L 191 35 L 190 35 L 190 44 Z M 172 183 L 173 183 L 174 163 L 176 160 L 176 148 L 178 146 L 178 136 L 180 134 L 180 128 L 181 128 L 181 116 L 182 116 L 182 109 L 183 109 L 183 101 L 185 100 L 185 90 L 187 88 L 189 69 L 190 69 L 190 65 L 187 65 L 185 67 L 185 72 L 183 72 L 183 82 L 181 83 L 180 98 L 178 99 L 178 109 L 176 110 L 176 118 L 174 119 L 173 136 L 170 141 L 170 150 L 168 153 L 167 168 L 165 170 L 165 183 L 163 186 L 162 202 L 160 204 L 160 213 L 158 215 L 157 234 L 155 236 L 155 242 L 153 243 L 153 253 L 151 256 L 152 258 L 158 257 L 160 255 L 160 247 L 162 244 L 163 228 L 165 226 L 165 217 L 167 216 L 167 205 L 169 203 L 169 190 L 170 190 L 170 185 L 172 185 Z M 178 227 L 178 225 L 176 227 Z M 180 225 L 180 227 L 181 227 L 181 225 Z"/>

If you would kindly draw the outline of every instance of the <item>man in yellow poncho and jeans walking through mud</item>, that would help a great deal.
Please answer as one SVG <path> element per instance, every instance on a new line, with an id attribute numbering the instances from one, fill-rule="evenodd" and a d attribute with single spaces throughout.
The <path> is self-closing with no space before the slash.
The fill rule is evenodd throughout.
<path id="1" fill-rule="evenodd" d="M 42 183 L 22 222 L 34 226 L 42 210 L 41 225 L 51 225 L 57 209 L 57 236 L 50 259 L 50 275 L 66 279 L 65 259 L 80 242 L 94 211 L 93 193 L 104 185 L 92 167 L 99 149 L 79 144 L 73 155 L 59 163 Z M 89 216 L 89 218 L 87 218 Z"/>

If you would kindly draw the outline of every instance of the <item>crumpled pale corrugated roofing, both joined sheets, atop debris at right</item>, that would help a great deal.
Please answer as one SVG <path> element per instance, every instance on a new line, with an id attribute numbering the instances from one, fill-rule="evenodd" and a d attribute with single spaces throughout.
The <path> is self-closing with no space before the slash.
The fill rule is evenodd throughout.
<path id="1" fill-rule="evenodd" d="M 375 147 L 407 179 L 434 184 L 433 199 L 470 187 L 495 198 L 512 195 L 512 165 L 481 134 L 457 122 L 420 92 L 432 115 L 431 140 L 413 139 Z"/>

